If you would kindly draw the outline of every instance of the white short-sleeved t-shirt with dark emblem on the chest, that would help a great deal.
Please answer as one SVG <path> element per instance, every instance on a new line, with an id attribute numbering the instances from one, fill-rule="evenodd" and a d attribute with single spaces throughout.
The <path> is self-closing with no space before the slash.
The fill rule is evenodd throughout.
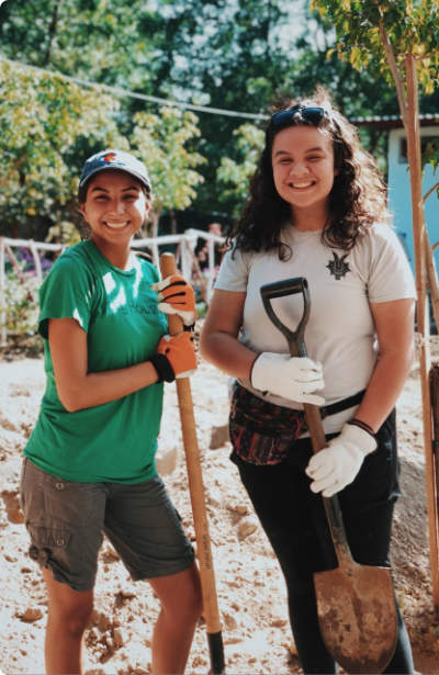
<path id="1" fill-rule="evenodd" d="M 320 230 L 284 228 L 282 240 L 292 248 L 289 260 L 278 251 L 225 255 L 215 289 L 246 292 L 239 340 L 256 352 L 289 353 L 284 336 L 268 317 L 260 288 L 284 279 L 304 277 L 311 297 L 305 346 L 309 358 L 323 364 L 325 390 L 318 392 L 326 405 L 347 398 L 367 387 L 374 368 L 378 345 L 369 303 L 415 297 L 415 284 L 404 249 L 389 225 L 374 225 L 344 251 L 322 243 Z M 303 313 L 302 294 L 271 301 L 280 320 L 295 330 Z M 256 395 L 261 392 L 251 389 Z M 268 394 L 270 403 L 302 408 Z M 339 431 L 352 417 L 353 408 L 324 420 L 327 434 Z"/>

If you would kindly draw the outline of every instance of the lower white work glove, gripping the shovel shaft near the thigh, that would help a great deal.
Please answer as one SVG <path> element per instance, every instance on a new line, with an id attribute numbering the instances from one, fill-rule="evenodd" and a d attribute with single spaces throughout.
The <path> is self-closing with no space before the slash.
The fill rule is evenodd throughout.
<path id="1" fill-rule="evenodd" d="M 306 466 L 313 479 L 311 490 L 331 497 L 352 483 L 367 454 L 376 450 L 374 437 L 356 425 L 346 424 L 328 447 L 314 454 Z"/>

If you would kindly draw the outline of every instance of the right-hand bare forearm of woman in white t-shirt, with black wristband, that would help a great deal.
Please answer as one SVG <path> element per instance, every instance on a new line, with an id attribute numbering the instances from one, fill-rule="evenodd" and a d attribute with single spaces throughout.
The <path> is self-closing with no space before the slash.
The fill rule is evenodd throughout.
<path id="1" fill-rule="evenodd" d="M 356 417 L 376 431 L 391 413 L 413 364 L 414 300 L 371 304 L 379 359 Z"/>

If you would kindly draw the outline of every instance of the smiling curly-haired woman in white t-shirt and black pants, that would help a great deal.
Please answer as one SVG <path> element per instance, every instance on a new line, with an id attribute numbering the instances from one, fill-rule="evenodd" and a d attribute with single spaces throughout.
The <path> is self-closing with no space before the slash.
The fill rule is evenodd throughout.
<path id="1" fill-rule="evenodd" d="M 373 159 L 324 91 L 279 109 L 202 333 L 204 358 L 235 378 L 230 459 L 284 574 L 305 673 L 337 672 L 313 585 L 315 572 L 337 566 L 320 494 L 338 494 L 354 560 L 389 566 L 394 407 L 414 358 L 415 288 L 385 204 Z M 311 294 L 306 359 L 290 356 L 260 295 L 296 277 Z M 303 304 L 277 303 L 293 329 Z M 326 413 L 327 447 L 314 457 L 303 403 Z M 385 673 L 413 667 L 398 612 Z"/>

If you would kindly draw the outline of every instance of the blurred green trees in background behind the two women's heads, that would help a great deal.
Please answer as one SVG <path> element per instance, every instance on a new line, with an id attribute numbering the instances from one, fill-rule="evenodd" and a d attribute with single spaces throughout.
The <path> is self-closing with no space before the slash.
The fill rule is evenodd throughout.
<path id="1" fill-rule="evenodd" d="M 131 148 L 149 166 L 149 232 L 213 220 L 227 227 L 263 128 L 246 113 L 267 115 L 323 85 L 350 117 L 398 114 L 393 86 L 373 63 L 358 72 L 340 60 L 330 13 L 305 0 L 7 0 L 0 59 L 0 234 L 15 237 L 71 236 L 77 177 L 103 146 Z M 244 116 L 183 112 L 130 92 Z M 424 95 L 421 112 L 438 103 L 438 91 Z M 385 169 L 385 134 L 361 134 Z"/>

